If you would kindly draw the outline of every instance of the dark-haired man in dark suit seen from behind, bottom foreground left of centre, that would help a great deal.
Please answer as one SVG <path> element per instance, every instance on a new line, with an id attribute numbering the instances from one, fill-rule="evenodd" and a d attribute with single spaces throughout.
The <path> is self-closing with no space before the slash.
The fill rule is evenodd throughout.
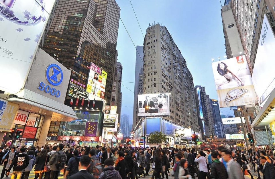
<path id="1" fill-rule="evenodd" d="M 78 164 L 78 172 L 70 176 L 70 179 L 94 179 L 93 175 L 91 175 L 87 168 L 89 168 L 91 163 L 91 158 L 87 155 L 84 155 L 80 158 L 80 162 Z"/>

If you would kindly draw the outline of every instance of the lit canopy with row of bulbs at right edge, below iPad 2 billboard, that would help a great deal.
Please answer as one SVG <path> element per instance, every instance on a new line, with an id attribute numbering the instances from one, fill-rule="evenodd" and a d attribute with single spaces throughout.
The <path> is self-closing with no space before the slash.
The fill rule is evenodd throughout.
<path id="1" fill-rule="evenodd" d="M 269 125 L 275 120 L 275 89 L 270 93 L 270 96 L 266 100 L 264 106 L 256 116 L 252 123 L 254 128 L 264 128 L 265 125 Z"/>

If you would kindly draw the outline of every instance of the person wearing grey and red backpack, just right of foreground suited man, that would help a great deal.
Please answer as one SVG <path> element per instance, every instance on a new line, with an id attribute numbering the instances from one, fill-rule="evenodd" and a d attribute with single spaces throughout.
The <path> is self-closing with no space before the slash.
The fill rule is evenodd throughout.
<path id="1" fill-rule="evenodd" d="M 99 175 L 102 173 L 102 166 L 95 156 L 94 149 L 89 151 L 89 157 L 91 158 L 91 164 L 87 170 L 90 174 L 93 174 L 94 178 L 98 178 Z"/>

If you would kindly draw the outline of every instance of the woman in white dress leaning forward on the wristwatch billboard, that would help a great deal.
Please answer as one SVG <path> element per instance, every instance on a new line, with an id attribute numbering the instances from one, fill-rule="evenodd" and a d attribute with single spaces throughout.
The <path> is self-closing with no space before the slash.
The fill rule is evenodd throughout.
<path id="1" fill-rule="evenodd" d="M 218 64 L 217 71 L 221 76 L 225 77 L 226 79 L 224 83 L 221 83 L 218 86 L 218 89 L 223 89 L 221 86 L 229 82 L 236 83 L 235 85 L 230 85 L 232 87 L 244 86 L 244 83 L 241 80 L 241 78 L 237 74 L 233 73 L 233 71 L 231 71 L 224 62 Z"/>

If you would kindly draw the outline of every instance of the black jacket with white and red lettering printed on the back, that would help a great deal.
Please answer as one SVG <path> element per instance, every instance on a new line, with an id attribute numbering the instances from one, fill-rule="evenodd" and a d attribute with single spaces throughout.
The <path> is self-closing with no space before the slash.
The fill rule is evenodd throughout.
<path id="1" fill-rule="evenodd" d="M 8 172 L 11 171 L 13 167 L 13 171 L 22 171 L 29 165 L 29 156 L 26 152 L 19 153 L 11 162 L 9 166 Z"/>

